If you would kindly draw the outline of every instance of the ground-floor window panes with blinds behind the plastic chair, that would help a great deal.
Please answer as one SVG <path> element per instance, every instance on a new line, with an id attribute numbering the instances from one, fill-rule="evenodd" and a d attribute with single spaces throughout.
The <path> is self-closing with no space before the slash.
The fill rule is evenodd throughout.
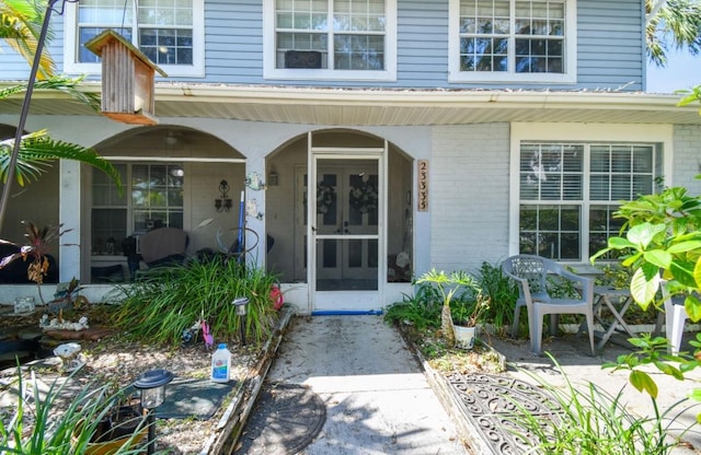
<path id="1" fill-rule="evenodd" d="M 522 141 L 519 154 L 519 253 L 586 261 L 619 235 L 623 200 L 654 192 L 651 143 Z"/>

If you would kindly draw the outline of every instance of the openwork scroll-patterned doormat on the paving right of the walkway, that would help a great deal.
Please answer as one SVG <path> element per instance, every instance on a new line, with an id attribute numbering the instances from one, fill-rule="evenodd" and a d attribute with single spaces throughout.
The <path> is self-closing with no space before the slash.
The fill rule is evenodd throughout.
<path id="1" fill-rule="evenodd" d="M 529 436 L 516 427 L 516 413 L 528 412 L 559 420 L 558 402 L 524 381 L 479 373 L 453 373 L 447 380 L 462 412 L 481 436 L 484 451 L 507 455 L 529 453 L 529 446 L 516 435 Z"/>

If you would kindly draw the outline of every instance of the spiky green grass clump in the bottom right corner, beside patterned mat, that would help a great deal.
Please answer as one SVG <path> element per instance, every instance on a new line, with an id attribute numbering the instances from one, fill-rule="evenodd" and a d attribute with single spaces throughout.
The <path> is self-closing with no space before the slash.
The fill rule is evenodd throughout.
<path id="1" fill-rule="evenodd" d="M 690 408 L 682 406 L 687 398 L 664 411 L 651 398 L 653 415 L 641 417 L 627 409 L 622 389 L 613 395 L 594 383 L 577 387 L 560 364 L 552 357 L 550 359 L 563 374 L 563 387 L 527 372 L 551 397 L 550 415 L 532 413 L 522 404 L 514 401 L 516 411 L 508 419 L 509 431 L 532 448 L 528 453 L 666 455 L 691 428 L 675 428 L 678 416 Z M 673 434 L 673 430 L 679 430 L 679 433 Z"/>

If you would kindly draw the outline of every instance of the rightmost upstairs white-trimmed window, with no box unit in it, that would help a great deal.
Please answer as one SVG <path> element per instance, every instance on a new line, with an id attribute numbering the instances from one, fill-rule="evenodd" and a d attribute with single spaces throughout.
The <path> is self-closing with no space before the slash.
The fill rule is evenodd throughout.
<path id="1" fill-rule="evenodd" d="M 574 82 L 574 0 L 451 0 L 450 81 Z"/>

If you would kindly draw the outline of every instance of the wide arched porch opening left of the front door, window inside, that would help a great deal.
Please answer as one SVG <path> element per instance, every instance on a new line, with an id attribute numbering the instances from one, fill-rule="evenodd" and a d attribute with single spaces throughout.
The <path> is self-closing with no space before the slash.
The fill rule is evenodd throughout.
<path id="1" fill-rule="evenodd" d="M 159 125 L 122 131 L 94 149 L 119 167 L 125 195 L 118 196 L 100 174 L 81 170 L 81 244 L 87 246 L 81 276 L 91 282 L 117 265 L 128 280 L 123 242 L 150 229 L 183 229 L 186 253 L 194 255 L 216 252 L 218 238 L 228 238 L 226 233 L 239 225 L 246 159 L 216 136 Z"/>

